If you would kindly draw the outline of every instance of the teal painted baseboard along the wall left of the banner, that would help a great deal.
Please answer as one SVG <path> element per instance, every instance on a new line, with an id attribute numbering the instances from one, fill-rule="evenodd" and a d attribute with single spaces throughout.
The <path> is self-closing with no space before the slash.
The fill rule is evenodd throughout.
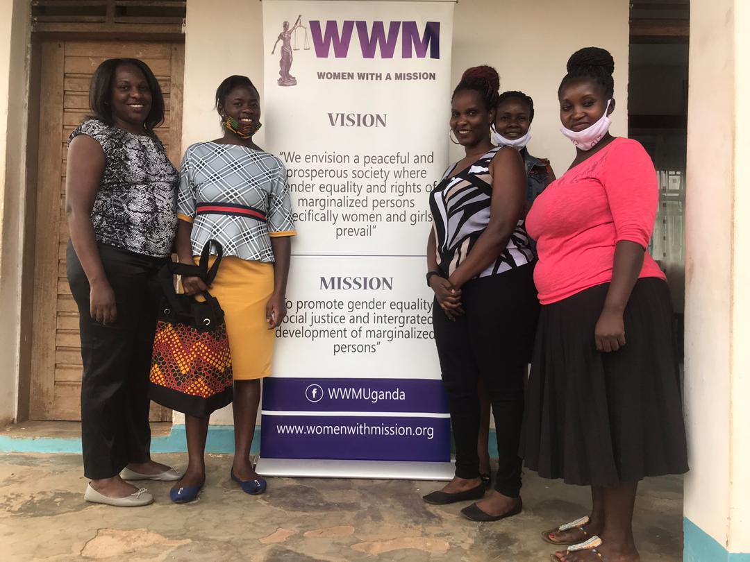
<path id="1" fill-rule="evenodd" d="M 255 428 L 252 454 L 260 451 L 260 426 Z M 185 453 L 185 426 L 172 426 L 169 435 L 151 439 L 151 453 Z M 206 453 L 233 453 L 233 426 L 210 426 L 205 444 Z M 80 438 L 14 438 L 0 435 L 0 453 L 81 453 Z"/>

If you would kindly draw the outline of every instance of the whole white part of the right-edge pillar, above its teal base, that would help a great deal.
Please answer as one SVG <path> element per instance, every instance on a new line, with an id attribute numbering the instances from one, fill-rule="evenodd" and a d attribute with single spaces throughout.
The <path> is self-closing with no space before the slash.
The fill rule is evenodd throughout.
<path id="1" fill-rule="evenodd" d="M 691 2 L 685 517 L 729 552 L 750 552 L 748 25 L 745 0 Z"/>

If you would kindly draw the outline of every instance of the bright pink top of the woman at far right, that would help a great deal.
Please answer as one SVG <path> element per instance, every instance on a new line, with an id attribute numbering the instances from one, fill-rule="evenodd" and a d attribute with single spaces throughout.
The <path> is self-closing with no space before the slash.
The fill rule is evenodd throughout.
<path id="1" fill-rule="evenodd" d="M 553 181 L 526 217 L 537 241 L 539 301 L 555 303 L 611 281 L 616 244 L 648 247 L 657 205 L 653 163 L 631 139 L 614 139 Z M 666 279 L 647 252 L 638 277 Z"/>

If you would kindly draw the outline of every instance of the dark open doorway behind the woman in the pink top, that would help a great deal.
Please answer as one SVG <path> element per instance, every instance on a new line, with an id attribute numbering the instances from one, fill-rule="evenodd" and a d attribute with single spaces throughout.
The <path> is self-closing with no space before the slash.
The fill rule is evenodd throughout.
<path id="1" fill-rule="evenodd" d="M 667 274 L 680 358 L 684 354 L 689 41 L 689 0 L 631 3 L 628 136 L 646 148 L 658 175 L 658 214 L 649 251 Z"/>

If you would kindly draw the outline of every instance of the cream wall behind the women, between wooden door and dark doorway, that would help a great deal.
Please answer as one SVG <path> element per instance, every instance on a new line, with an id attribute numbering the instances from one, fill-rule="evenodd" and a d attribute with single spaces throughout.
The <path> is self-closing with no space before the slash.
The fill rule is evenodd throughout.
<path id="1" fill-rule="evenodd" d="M 212 139 L 220 129 L 213 109 L 219 82 L 230 74 L 250 76 L 263 97 L 262 3 L 248 0 L 190 0 L 185 28 L 185 74 L 182 146 Z M 428 9 L 425 6 L 425 9 Z M 221 13 L 223 17 L 217 17 Z M 384 14 L 387 18 L 387 14 Z M 226 17 L 243 22 L 243 40 L 226 40 Z M 586 30 L 586 37 L 581 30 Z M 557 87 L 565 62 L 583 46 L 602 46 L 615 59 L 615 97 L 612 132 L 625 135 L 628 87 L 628 2 L 601 0 L 585 9 L 558 0 L 505 2 L 461 0 L 455 7 L 452 82 L 463 70 L 491 64 L 500 74 L 500 89 L 522 90 L 534 100 L 535 119 L 529 150 L 552 160 L 561 174 L 574 157 L 571 143 L 559 133 Z M 448 120 L 446 111 L 435 118 Z M 272 123 L 266 127 L 273 127 Z M 307 132 L 306 134 L 311 134 Z M 257 136 L 263 146 L 263 129 Z M 452 158 L 462 157 L 460 149 Z M 175 414 L 175 423 L 182 423 Z M 231 423 L 229 409 L 218 412 L 214 423 Z"/>

